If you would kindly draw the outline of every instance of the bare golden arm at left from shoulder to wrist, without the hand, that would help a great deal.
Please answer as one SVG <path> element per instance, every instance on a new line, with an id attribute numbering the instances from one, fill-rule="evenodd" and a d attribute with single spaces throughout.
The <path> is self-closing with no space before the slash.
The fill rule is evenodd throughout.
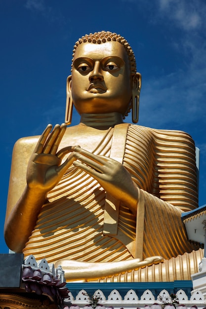
<path id="1" fill-rule="evenodd" d="M 35 198 L 30 198 L 32 192 L 28 192 L 26 182 L 27 165 L 38 139 L 22 138 L 13 148 L 4 237 L 8 247 L 16 252 L 21 252 L 29 237 L 29 230 L 34 229 L 38 203 L 42 205 L 45 200 L 45 196 L 41 198 L 38 193 Z M 32 202 L 35 205 L 32 205 Z"/>

